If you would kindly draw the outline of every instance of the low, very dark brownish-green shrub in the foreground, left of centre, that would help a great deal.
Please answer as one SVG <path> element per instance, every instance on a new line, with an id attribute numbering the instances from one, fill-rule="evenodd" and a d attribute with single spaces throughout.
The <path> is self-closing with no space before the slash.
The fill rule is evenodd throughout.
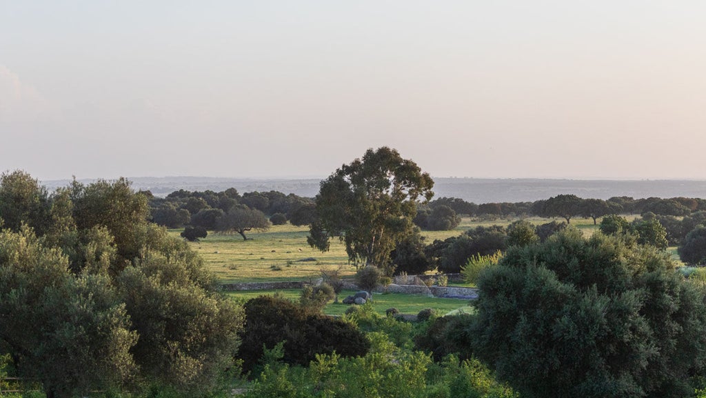
<path id="1" fill-rule="evenodd" d="M 237 357 L 246 371 L 255 368 L 263 349 L 282 341 L 282 360 L 299 365 L 309 364 L 321 353 L 362 356 L 370 348 L 368 339 L 353 324 L 312 315 L 289 300 L 263 295 L 248 300 L 244 308 L 246 322 Z"/>

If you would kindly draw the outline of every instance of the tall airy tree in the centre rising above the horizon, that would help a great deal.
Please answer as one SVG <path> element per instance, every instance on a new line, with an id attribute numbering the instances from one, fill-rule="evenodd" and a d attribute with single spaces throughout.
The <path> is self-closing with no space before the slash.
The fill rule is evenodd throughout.
<path id="1" fill-rule="evenodd" d="M 321 182 L 307 241 L 326 251 L 329 238 L 339 237 L 353 262 L 383 267 L 412 233 L 417 199 L 429 201 L 432 187 L 429 174 L 395 149 L 369 149 Z"/>

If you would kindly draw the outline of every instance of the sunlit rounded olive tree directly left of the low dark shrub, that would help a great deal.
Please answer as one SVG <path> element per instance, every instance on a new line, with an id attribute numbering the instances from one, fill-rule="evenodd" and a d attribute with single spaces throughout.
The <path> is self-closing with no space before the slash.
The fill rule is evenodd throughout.
<path id="1" fill-rule="evenodd" d="M 140 336 L 133 358 L 149 380 L 207 391 L 232 361 L 243 312 L 215 291 L 186 242 L 153 236 L 149 255 L 116 278 Z"/>

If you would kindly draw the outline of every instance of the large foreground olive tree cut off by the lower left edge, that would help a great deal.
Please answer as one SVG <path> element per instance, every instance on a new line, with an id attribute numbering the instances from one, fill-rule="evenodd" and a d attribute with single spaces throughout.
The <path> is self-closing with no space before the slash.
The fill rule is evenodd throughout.
<path id="1" fill-rule="evenodd" d="M 0 232 L 0 349 L 48 397 L 119 385 L 131 376 L 126 308 L 106 276 L 68 271 L 30 230 Z"/>

